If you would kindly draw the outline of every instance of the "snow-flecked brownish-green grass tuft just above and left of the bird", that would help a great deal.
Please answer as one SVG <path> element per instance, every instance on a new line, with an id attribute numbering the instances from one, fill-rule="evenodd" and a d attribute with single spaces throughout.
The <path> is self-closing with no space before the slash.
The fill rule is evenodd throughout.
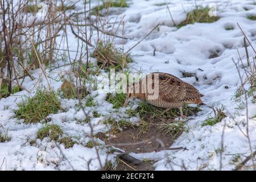
<path id="1" fill-rule="evenodd" d="M 127 63 L 133 62 L 130 55 L 118 50 L 113 44 L 102 41 L 98 42 L 92 56 L 97 59 L 98 65 L 102 68 L 122 70 L 127 67 Z"/>

